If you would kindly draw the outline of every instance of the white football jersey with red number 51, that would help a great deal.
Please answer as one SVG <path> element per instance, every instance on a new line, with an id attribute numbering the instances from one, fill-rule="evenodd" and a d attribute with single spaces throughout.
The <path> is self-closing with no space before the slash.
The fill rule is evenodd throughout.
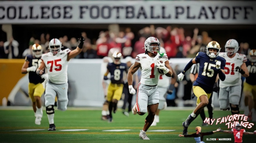
<path id="1" fill-rule="evenodd" d="M 219 53 L 220 57 L 226 59 L 226 66 L 225 66 L 225 81 L 219 82 L 219 87 L 225 88 L 228 86 L 236 86 L 241 85 L 241 73 L 236 71 L 236 67 L 241 67 L 243 62 L 247 61 L 246 55 L 236 53 L 235 57 L 229 58 L 227 53 Z"/>

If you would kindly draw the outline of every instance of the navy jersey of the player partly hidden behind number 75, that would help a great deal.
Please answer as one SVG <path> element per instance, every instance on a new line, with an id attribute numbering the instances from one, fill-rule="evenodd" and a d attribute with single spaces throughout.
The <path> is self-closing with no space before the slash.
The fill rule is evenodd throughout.
<path id="1" fill-rule="evenodd" d="M 25 58 L 25 60 L 29 61 L 28 67 L 36 66 L 38 68 L 39 65 L 41 64 L 41 57 L 36 58 L 36 57 L 33 57 L 32 55 L 29 55 Z M 33 71 L 28 72 L 28 79 L 29 79 L 29 83 L 33 83 L 33 84 L 42 83 L 44 81 L 44 79 L 42 79 L 41 76 L 39 76 L 36 72 L 33 72 Z"/>

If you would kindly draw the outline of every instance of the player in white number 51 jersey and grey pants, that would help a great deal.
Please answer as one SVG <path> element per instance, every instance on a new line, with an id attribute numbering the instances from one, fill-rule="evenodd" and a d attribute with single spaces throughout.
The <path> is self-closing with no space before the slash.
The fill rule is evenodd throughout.
<path id="1" fill-rule="evenodd" d="M 246 55 L 238 54 L 238 42 L 234 39 L 227 41 L 226 52 L 219 56 L 226 59 L 225 74 L 226 80 L 219 82 L 219 105 L 220 109 L 228 110 L 231 108 L 232 114 L 239 114 L 239 101 L 241 96 L 241 75 L 249 76 L 246 67 Z"/>

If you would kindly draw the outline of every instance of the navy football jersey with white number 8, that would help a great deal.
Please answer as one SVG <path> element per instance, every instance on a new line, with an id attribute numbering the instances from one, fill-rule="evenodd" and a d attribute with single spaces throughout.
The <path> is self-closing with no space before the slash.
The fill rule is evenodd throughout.
<path id="1" fill-rule="evenodd" d="M 107 69 L 110 72 L 111 83 L 123 84 L 124 71 L 127 71 L 126 63 L 115 64 L 114 62 L 107 64 Z"/>

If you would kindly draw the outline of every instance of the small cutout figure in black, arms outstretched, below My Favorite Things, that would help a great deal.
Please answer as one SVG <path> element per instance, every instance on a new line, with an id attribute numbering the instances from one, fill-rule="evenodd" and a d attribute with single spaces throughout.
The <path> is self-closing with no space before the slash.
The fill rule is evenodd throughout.
<path id="1" fill-rule="evenodd" d="M 194 137 L 196 143 L 205 143 L 203 141 L 204 136 L 213 135 L 215 132 L 220 132 L 221 131 L 221 129 L 218 128 L 216 131 L 201 133 L 202 127 L 197 126 L 195 129 L 196 129 L 196 133 L 191 134 L 191 135 L 181 135 L 180 134 L 179 137 Z"/>

